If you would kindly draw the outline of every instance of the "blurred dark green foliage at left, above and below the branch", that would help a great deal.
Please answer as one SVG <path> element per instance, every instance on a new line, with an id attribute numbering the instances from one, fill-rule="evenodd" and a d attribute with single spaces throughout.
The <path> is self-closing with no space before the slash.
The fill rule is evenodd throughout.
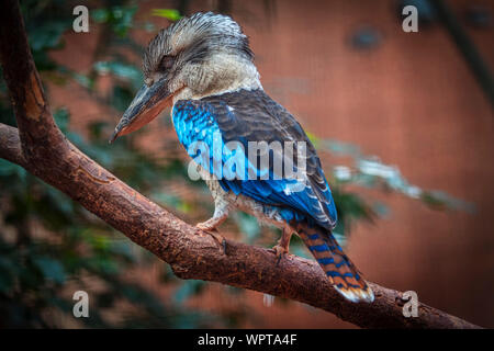
<path id="1" fill-rule="evenodd" d="M 115 1 L 112 1 L 113 3 Z M 142 83 L 141 71 L 115 58 L 94 64 L 97 75 L 80 75 L 57 65 L 48 56 L 50 49 L 64 46 L 63 34 L 71 27 L 71 9 L 67 1 L 23 1 L 31 49 L 44 79 L 66 83 L 70 79 L 92 89 L 99 75 L 121 78 L 112 97 L 104 103 L 122 110 Z M 117 42 L 132 26 L 136 5 L 115 4 L 91 12 L 92 19 L 108 25 Z M 110 37 L 112 37 L 110 35 Z M 180 199 L 164 200 L 164 178 L 182 179 L 184 166 L 177 159 L 167 162 L 143 152 L 127 143 L 108 146 L 106 122 L 94 122 L 88 137 L 68 128 L 66 109 L 54 113 L 57 125 L 77 147 L 103 167 L 112 170 L 131 186 L 157 194 L 161 203 L 187 208 Z M 3 79 L 0 80 L 0 123 L 15 125 Z M 170 327 L 194 328 L 221 326 L 220 318 L 201 313 L 156 295 L 139 282 L 126 279 L 124 272 L 162 267 L 162 282 L 170 282 L 169 268 L 150 253 L 116 234 L 104 223 L 71 202 L 59 191 L 46 185 L 21 167 L 0 159 L 0 328 L 63 327 L 64 316 L 72 322 L 74 292 L 90 292 L 90 318 L 77 319 L 86 327 Z M 161 194 L 161 196 L 160 196 Z M 187 298 L 188 285 L 179 285 L 177 296 Z M 192 286 L 192 285 L 191 285 Z M 192 292 L 191 292 L 192 293 Z M 67 317 L 65 317 L 67 318 Z"/>

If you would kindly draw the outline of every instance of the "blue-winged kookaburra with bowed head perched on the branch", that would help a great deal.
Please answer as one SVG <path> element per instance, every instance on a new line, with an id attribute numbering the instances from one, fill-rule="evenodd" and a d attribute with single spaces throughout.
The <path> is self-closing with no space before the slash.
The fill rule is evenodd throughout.
<path id="1" fill-rule="evenodd" d="M 214 216 L 199 228 L 215 230 L 232 210 L 250 213 L 281 228 L 274 247 L 279 259 L 296 233 L 341 295 L 372 302 L 371 288 L 332 235 L 336 207 L 316 150 L 299 122 L 263 91 L 240 26 L 211 12 L 183 18 L 149 43 L 143 69 L 145 83 L 111 140 L 171 105 L 178 138 L 214 199 Z M 261 160 L 259 145 L 269 145 L 268 161 Z M 281 174 L 276 170 L 280 155 L 291 165 Z M 288 163 L 287 155 L 294 161 Z M 236 177 L 226 177 L 224 166 L 232 159 Z"/>

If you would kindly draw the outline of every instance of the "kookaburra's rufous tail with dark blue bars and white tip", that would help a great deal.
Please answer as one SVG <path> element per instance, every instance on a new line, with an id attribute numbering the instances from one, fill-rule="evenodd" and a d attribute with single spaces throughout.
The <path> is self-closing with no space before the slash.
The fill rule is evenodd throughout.
<path id="1" fill-rule="evenodd" d="M 311 250 L 335 288 L 349 301 L 374 301 L 374 294 L 335 237 L 322 227 L 297 226 L 299 236 Z"/>

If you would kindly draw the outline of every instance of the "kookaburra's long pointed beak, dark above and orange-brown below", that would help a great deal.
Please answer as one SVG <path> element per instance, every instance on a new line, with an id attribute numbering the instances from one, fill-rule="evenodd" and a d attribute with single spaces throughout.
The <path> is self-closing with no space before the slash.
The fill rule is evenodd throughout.
<path id="1" fill-rule="evenodd" d="M 150 87 L 143 84 L 116 125 L 109 143 L 111 144 L 119 136 L 135 132 L 151 122 L 170 104 L 170 100 L 171 95 L 166 78 L 161 78 Z"/>

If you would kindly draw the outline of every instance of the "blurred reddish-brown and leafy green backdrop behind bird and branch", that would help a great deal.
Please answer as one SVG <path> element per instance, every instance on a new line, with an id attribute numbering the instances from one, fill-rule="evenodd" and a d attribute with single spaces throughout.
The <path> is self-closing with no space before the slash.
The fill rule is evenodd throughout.
<path id="1" fill-rule="evenodd" d="M 89 9 L 89 33 L 72 9 Z M 404 5 L 418 32 L 402 30 Z M 169 111 L 108 138 L 143 82 L 161 27 L 232 15 L 265 90 L 310 134 L 334 189 L 337 237 L 366 278 L 494 327 L 493 1 L 22 1 L 58 126 L 119 178 L 193 224 L 213 204 L 187 176 Z M 3 79 L 0 122 L 15 125 Z M 280 233 L 236 214 L 222 234 L 271 247 Z M 292 239 L 291 252 L 310 257 Z M 72 294 L 89 294 L 89 318 Z M 0 328 L 352 328 L 303 304 L 169 267 L 64 194 L 0 160 Z"/>

